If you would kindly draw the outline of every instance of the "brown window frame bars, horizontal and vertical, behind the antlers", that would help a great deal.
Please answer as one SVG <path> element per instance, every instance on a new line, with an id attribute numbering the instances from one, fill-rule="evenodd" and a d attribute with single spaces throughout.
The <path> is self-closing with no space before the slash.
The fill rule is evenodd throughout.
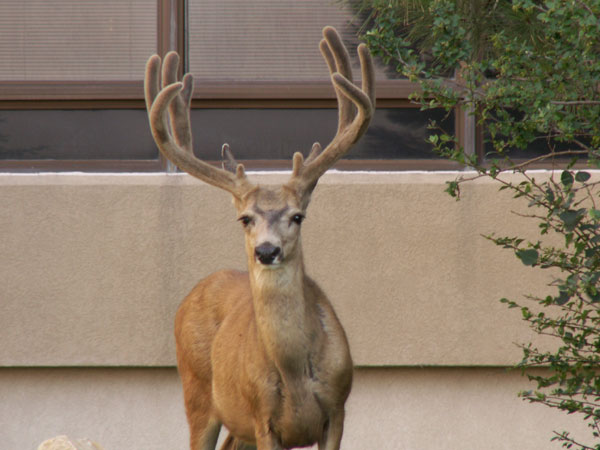
<path id="1" fill-rule="evenodd" d="M 157 53 L 170 50 L 183 55 L 187 67 L 186 0 L 157 0 Z M 141 76 L 142 74 L 140 74 Z M 409 100 L 417 88 L 405 79 L 379 81 L 377 106 L 418 108 Z M 192 108 L 336 108 L 335 92 L 324 82 L 213 82 L 196 83 Z M 9 109 L 145 109 L 143 81 L 0 81 L 0 110 Z M 455 111 L 459 142 L 465 142 L 467 121 Z M 220 161 L 207 161 L 220 164 Z M 240 161 L 250 170 L 289 169 L 291 161 Z M 443 159 L 341 160 L 342 170 L 455 170 L 456 163 Z M 0 160 L 0 172 L 84 171 L 163 172 L 176 170 L 158 152 L 152 160 Z"/>

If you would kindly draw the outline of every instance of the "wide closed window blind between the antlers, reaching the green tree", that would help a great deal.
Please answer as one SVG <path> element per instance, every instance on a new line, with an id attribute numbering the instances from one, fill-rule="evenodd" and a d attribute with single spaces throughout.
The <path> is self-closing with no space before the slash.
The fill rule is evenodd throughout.
<path id="1" fill-rule="evenodd" d="M 321 30 L 334 26 L 360 77 L 360 17 L 334 0 L 189 0 L 189 71 L 197 80 L 327 81 Z M 377 68 L 377 77 L 386 78 Z"/>

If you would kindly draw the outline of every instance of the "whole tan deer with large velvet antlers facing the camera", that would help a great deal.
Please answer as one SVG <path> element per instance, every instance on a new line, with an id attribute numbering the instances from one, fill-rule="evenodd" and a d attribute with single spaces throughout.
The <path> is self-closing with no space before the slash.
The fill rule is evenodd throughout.
<path id="1" fill-rule="evenodd" d="M 333 27 L 320 50 L 337 97 L 338 128 L 306 159 L 296 152 L 289 181 L 252 183 L 227 144 L 222 167 L 192 150 L 193 78 L 178 81 L 179 56 L 153 55 L 144 81 L 150 129 L 162 154 L 184 172 L 228 191 L 244 230 L 247 272 L 221 270 L 200 281 L 175 317 L 177 368 L 192 450 L 279 450 L 318 444 L 338 450 L 353 363 L 345 331 L 306 275 L 300 229 L 319 178 L 365 133 L 374 113 L 374 69 L 358 49 L 362 84 Z"/>

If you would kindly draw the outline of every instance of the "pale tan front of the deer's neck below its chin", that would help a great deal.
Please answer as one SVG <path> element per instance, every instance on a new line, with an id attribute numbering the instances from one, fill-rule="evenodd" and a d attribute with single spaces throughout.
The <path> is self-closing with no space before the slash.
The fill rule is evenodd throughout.
<path id="1" fill-rule="evenodd" d="M 258 335 L 267 357 L 284 377 L 302 376 L 315 322 L 313 305 L 305 298 L 301 251 L 277 267 L 251 261 L 250 283 Z"/>

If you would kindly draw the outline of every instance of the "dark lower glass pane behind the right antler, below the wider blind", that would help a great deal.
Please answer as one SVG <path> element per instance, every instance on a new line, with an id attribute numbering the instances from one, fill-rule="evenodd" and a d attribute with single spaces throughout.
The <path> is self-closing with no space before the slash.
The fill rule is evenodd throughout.
<path id="1" fill-rule="evenodd" d="M 367 134 L 348 159 L 432 159 L 426 142 L 436 120 L 454 132 L 454 116 L 444 111 L 416 108 L 378 109 Z M 220 158 L 227 142 L 236 158 L 291 159 L 296 151 L 307 154 L 313 142 L 327 145 L 337 129 L 335 109 L 194 109 L 194 151 L 206 160 Z"/>

